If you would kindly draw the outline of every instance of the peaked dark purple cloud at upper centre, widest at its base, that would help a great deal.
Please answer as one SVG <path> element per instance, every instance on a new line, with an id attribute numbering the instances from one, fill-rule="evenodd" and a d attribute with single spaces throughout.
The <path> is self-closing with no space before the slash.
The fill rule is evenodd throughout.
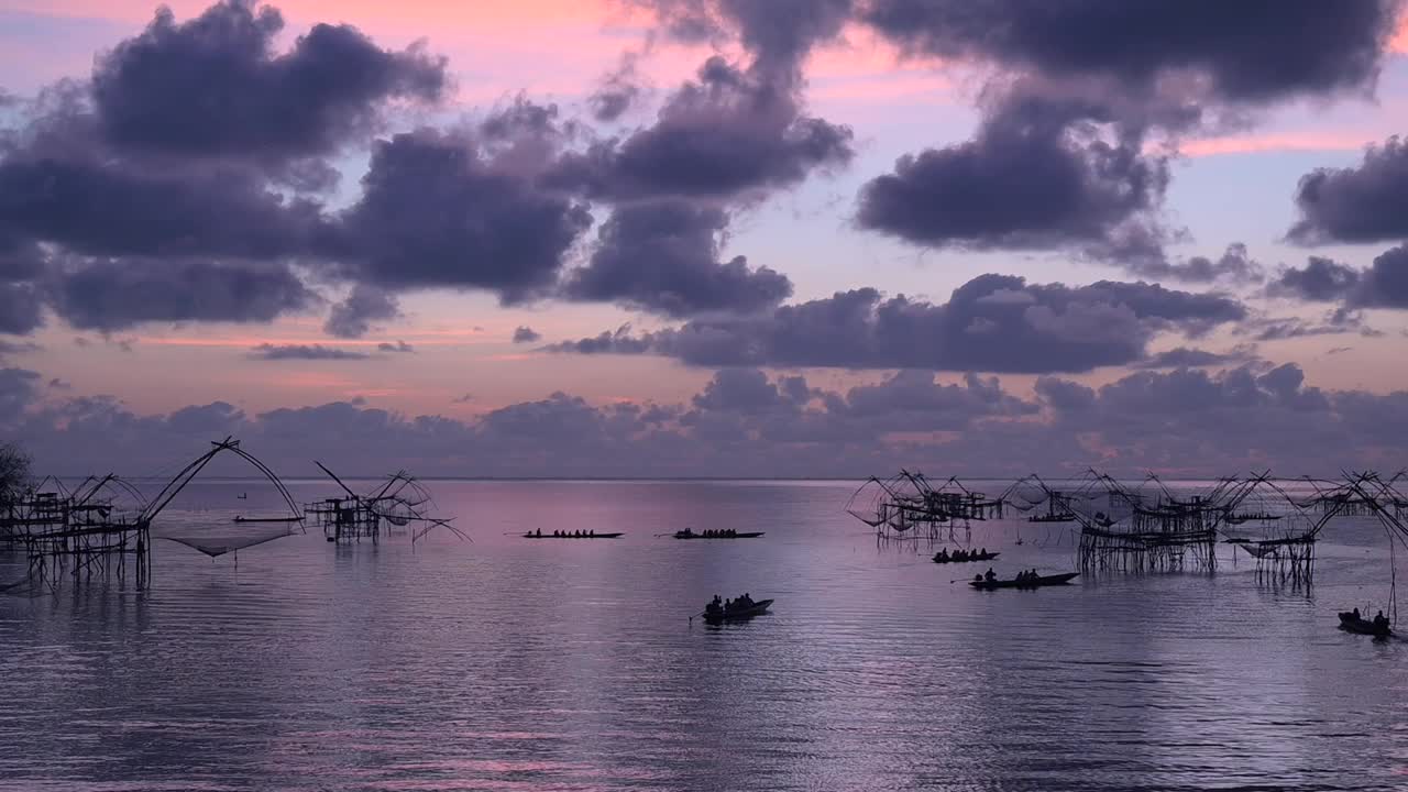
<path id="1" fill-rule="evenodd" d="M 803 114 L 800 101 L 790 85 L 710 58 L 653 125 L 565 156 L 552 183 L 612 200 L 734 199 L 849 163 L 850 128 Z"/>

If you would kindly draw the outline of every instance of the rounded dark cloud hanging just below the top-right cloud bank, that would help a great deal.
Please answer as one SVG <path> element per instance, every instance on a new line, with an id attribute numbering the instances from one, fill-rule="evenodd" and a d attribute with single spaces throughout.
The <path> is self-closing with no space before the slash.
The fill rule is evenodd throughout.
<path id="1" fill-rule="evenodd" d="M 1086 100 L 1014 92 L 977 137 L 895 162 L 860 190 L 860 227 L 908 242 L 960 248 L 1079 247 L 1097 255 L 1129 241 L 1157 248 L 1164 159 L 1143 154 L 1138 130 Z"/>

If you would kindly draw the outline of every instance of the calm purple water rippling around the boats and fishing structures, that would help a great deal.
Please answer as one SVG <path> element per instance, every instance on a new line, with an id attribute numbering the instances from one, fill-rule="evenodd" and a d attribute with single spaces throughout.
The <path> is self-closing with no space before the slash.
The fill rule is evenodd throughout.
<path id="1" fill-rule="evenodd" d="M 272 510 L 256 489 L 196 483 L 159 530 L 228 533 Z M 877 547 L 852 485 L 432 489 L 473 544 L 310 530 L 237 568 L 159 541 L 149 590 L 0 596 L 0 789 L 1408 788 L 1408 644 L 1333 629 L 1388 595 L 1367 520 L 1309 595 L 1229 550 L 1214 576 L 981 593 L 955 579 L 986 565 Z M 684 526 L 767 536 L 653 536 Z M 627 536 L 503 536 L 536 527 Z M 973 541 L 1071 569 L 1063 530 Z M 742 590 L 776 613 L 689 621 Z"/>

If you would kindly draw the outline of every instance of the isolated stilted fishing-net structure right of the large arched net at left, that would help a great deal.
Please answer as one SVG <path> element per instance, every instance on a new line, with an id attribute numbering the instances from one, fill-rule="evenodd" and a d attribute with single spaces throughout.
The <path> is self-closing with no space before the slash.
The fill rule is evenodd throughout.
<path id="1" fill-rule="evenodd" d="M 397 528 L 407 528 L 411 543 L 425 537 L 432 528 L 442 527 L 459 538 L 469 538 L 451 524 L 449 519 L 425 513 L 425 505 L 434 506 L 431 493 L 410 474 L 400 471 L 366 495 L 353 492 L 337 474 L 322 462 L 314 461 L 342 489 L 341 496 L 325 497 L 304 505 L 303 510 L 322 528 L 322 536 L 331 543 L 382 541 Z"/>

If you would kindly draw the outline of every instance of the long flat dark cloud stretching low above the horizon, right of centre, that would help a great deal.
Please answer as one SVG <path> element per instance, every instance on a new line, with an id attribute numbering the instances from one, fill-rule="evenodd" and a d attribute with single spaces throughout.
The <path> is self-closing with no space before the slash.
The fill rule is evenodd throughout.
<path id="1" fill-rule="evenodd" d="M 639 337 L 629 326 L 549 347 L 577 354 L 656 354 L 701 366 L 914 368 L 1083 372 L 1143 359 L 1164 331 L 1201 335 L 1246 318 L 1221 295 L 1149 283 L 1069 287 L 983 275 L 945 304 L 874 289 L 781 306 L 749 317 L 708 317 Z"/>

